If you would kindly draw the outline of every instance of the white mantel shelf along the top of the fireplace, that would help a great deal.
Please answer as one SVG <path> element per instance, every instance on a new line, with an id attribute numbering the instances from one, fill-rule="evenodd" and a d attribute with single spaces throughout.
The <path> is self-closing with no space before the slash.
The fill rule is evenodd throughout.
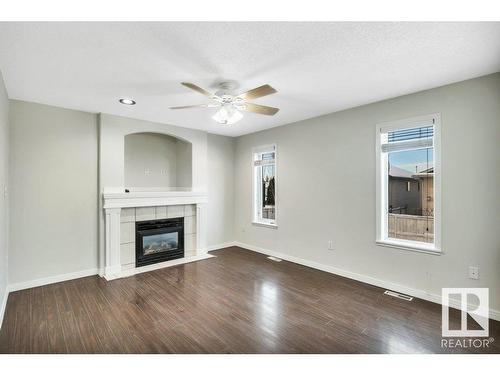
<path id="1" fill-rule="evenodd" d="M 207 194 L 203 191 L 136 191 L 130 193 L 104 191 L 102 197 L 104 209 L 207 202 Z"/>

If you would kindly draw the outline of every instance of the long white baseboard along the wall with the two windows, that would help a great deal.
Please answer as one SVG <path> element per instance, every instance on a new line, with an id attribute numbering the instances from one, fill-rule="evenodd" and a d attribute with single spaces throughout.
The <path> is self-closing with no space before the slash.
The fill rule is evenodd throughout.
<path id="1" fill-rule="evenodd" d="M 306 267 L 311 267 L 311 268 L 315 268 L 315 269 L 318 269 L 321 271 L 329 272 L 329 273 L 332 273 L 335 275 L 347 277 L 349 279 L 361 281 L 363 283 L 370 284 L 370 285 L 375 285 L 375 286 L 378 286 L 380 288 L 393 290 L 395 292 L 407 294 L 407 295 L 410 295 L 410 296 L 413 296 L 416 298 L 420 298 L 420 299 L 423 299 L 426 301 L 434 302 L 434 303 L 437 303 L 439 305 L 441 304 L 441 295 L 439 295 L 439 294 L 429 293 L 429 292 L 426 292 L 426 291 L 421 290 L 421 289 L 410 288 L 410 287 L 407 287 L 405 285 L 393 283 L 391 281 L 381 280 L 381 279 L 377 279 L 377 278 L 374 278 L 371 276 L 366 276 L 366 275 L 362 275 L 359 273 L 346 271 L 346 270 L 343 270 L 343 269 L 340 269 L 337 267 L 328 266 L 326 264 L 321 264 L 321 263 L 314 262 L 314 261 L 307 260 L 307 259 L 303 259 L 303 258 L 297 258 L 297 257 L 291 256 L 291 255 L 279 253 L 277 251 L 264 249 L 262 247 L 258 247 L 258 246 L 254 246 L 254 245 L 250 245 L 250 244 L 246 244 L 246 243 L 242 243 L 242 242 L 236 241 L 236 242 L 234 242 L 233 246 L 239 246 L 239 247 L 242 247 L 244 249 L 252 250 L 252 251 L 255 251 L 257 253 L 261 253 L 261 254 L 265 254 L 265 255 L 272 255 L 272 256 L 275 256 L 277 258 L 281 258 L 283 260 L 287 260 L 287 261 L 292 262 L 292 263 L 297 263 L 297 264 L 300 264 L 300 265 L 303 265 Z M 460 301 L 450 300 L 450 306 L 453 308 L 456 308 L 456 309 L 461 308 Z M 490 309 L 489 316 L 490 316 L 490 319 L 500 321 L 500 311 L 498 311 L 498 310 Z"/>

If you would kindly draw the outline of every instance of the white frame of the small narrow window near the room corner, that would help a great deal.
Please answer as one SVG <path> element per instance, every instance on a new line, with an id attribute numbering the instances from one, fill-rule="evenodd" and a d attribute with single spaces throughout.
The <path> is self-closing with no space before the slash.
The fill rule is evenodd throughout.
<path id="1" fill-rule="evenodd" d="M 274 181 L 275 187 L 278 186 L 278 149 L 276 144 L 252 148 L 252 224 L 275 229 L 278 227 L 278 189 L 276 188 L 274 192 L 274 220 L 260 217 L 260 198 L 257 194 L 260 196 L 261 191 L 256 189 L 258 178 L 260 186 L 260 176 L 257 176 L 257 168 L 254 165 L 255 155 L 268 152 L 274 152 Z"/>

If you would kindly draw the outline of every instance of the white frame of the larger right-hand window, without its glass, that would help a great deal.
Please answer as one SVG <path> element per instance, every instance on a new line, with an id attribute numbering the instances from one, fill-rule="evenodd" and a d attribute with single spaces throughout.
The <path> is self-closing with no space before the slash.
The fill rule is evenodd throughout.
<path id="1" fill-rule="evenodd" d="M 382 153 L 381 137 L 383 133 L 394 130 L 416 128 L 433 124 L 434 126 L 434 243 L 423 243 L 403 239 L 388 238 L 388 186 L 387 179 L 387 154 Z M 424 252 L 429 254 L 442 254 L 441 247 L 441 116 L 434 113 L 425 116 L 412 117 L 408 119 L 384 122 L 376 126 L 376 243 L 381 246 L 394 247 L 398 249 Z"/>

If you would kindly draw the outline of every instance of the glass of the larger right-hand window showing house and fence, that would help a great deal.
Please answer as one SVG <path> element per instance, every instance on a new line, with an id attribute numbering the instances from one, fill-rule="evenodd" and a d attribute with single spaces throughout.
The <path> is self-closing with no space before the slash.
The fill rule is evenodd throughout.
<path id="1" fill-rule="evenodd" d="M 400 136 L 410 136 L 407 134 Z M 388 237 L 433 243 L 433 148 L 389 152 L 387 179 Z"/>

